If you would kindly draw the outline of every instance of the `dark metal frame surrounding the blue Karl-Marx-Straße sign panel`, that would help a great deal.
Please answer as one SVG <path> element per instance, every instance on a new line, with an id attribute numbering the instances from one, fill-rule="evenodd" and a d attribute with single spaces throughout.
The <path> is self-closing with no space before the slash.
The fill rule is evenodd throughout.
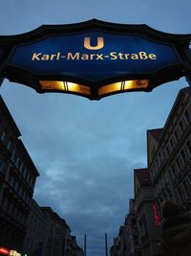
<path id="1" fill-rule="evenodd" d="M 135 35 L 145 38 L 148 41 L 170 46 L 178 58 L 177 63 L 161 66 L 154 72 L 139 72 L 137 74 L 126 73 L 116 77 L 106 78 L 99 81 L 90 81 L 81 77 L 68 76 L 66 74 L 49 75 L 32 72 L 28 68 L 13 65 L 10 59 L 15 49 L 22 45 L 29 45 L 39 42 L 45 38 L 59 35 L 80 35 L 90 31 L 98 31 L 108 35 Z M 1 35 L 0 36 L 0 81 L 4 78 L 10 81 L 28 85 L 39 93 L 64 92 L 84 96 L 90 100 L 99 100 L 103 97 L 126 91 L 152 91 L 155 87 L 167 81 L 176 81 L 181 77 L 191 78 L 191 35 L 173 35 L 154 30 L 147 25 L 125 25 L 109 23 L 100 20 L 89 20 L 70 25 L 43 25 L 32 32 L 22 35 Z M 56 83 L 56 86 L 49 87 L 41 81 L 63 81 L 63 89 Z M 126 87 L 127 81 L 136 81 L 138 86 Z M 147 86 L 143 82 L 149 81 Z M 138 83 L 139 82 L 139 83 Z M 70 90 L 70 83 L 78 84 L 79 90 Z M 43 85 L 44 84 L 44 87 Z M 116 85 L 114 85 L 116 84 Z M 46 87 L 47 86 L 47 87 Z M 111 87 L 112 86 L 112 87 Z M 116 89 L 115 86 L 119 86 Z M 109 89 L 108 89 L 109 88 Z M 112 89 L 111 89 L 112 88 Z M 89 93 L 87 93 L 87 89 Z M 102 94 L 98 94 L 102 90 Z"/>

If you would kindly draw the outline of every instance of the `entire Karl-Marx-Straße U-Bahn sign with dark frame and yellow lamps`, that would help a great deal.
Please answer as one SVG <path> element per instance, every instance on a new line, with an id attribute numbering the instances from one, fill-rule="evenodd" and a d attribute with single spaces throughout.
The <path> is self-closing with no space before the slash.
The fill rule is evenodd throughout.
<path id="1" fill-rule="evenodd" d="M 90 100 L 191 77 L 191 35 L 96 19 L 0 36 L 0 79 Z"/>

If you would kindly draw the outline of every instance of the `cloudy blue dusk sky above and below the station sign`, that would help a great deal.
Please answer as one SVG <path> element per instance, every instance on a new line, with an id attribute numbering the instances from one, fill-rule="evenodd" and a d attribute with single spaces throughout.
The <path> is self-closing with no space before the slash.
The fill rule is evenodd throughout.
<path id="1" fill-rule="evenodd" d="M 0 7 L 0 35 L 92 18 L 191 33 L 188 0 L 1 0 Z M 164 125 L 184 86 L 180 79 L 152 93 L 91 102 L 74 95 L 39 95 L 3 82 L 0 93 L 40 173 L 34 198 L 68 222 L 79 245 L 87 234 L 87 256 L 104 255 L 105 233 L 112 245 L 134 197 L 133 170 L 146 167 L 146 129 Z"/>

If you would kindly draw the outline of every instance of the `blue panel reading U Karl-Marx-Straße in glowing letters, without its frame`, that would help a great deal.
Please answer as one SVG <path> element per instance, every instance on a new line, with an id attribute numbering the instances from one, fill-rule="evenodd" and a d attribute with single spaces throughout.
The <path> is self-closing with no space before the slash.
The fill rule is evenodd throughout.
<path id="1" fill-rule="evenodd" d="M 77 78 L 84 81 L 150 75 L 180 63 L 172 45 L 141 35 L 86 31 L 50 35 L 39 41 L 17 45 L 9 66 L 37 76 Z"/>

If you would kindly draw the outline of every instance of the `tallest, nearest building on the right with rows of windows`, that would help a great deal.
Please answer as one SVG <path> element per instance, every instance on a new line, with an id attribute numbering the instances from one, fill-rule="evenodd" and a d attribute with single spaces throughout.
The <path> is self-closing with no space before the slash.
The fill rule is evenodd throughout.
<path id="1" fill-rule="evenodd" d="M 163 128 L 147 131 L 148 169 L 159 207 L 191 209 L 191 87 L 180 90 Z"/>

